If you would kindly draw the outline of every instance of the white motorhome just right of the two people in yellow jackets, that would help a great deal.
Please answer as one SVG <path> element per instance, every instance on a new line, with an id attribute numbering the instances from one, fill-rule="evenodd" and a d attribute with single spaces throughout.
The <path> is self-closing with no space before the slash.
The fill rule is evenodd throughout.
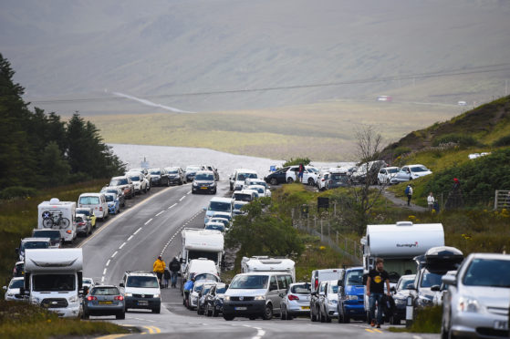
<path id="1" fill-rule="evenodd" d="M 224 254 L 224 234 L 221 231 L 185 228 L 181 232 L 182 272 L 193 259 L 205 258 L 216 264 L 220 272 Z"/>

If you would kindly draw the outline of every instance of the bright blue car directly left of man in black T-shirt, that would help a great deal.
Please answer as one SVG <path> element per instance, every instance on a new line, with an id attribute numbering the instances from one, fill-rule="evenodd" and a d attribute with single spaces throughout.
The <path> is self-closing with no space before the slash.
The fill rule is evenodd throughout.
<path id="1" fill-rule="evenodd" d="M 363 304 L 365 286 L 363 267 L 346 270 L 338 288 L 338 323 L 350 323 L 350 319 L 365 320 L 367 314 Z"/>

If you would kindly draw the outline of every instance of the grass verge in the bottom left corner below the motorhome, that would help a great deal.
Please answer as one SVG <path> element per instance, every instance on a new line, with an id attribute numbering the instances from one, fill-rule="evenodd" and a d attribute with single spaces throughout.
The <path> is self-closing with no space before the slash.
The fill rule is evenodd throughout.
<path id="1" fill-rule="evenodd" d="M 0 301 L 1 338 L 42 339 L 129 333 L 127 328 L 117 324 L 63 319 L 36 305 Z"/>

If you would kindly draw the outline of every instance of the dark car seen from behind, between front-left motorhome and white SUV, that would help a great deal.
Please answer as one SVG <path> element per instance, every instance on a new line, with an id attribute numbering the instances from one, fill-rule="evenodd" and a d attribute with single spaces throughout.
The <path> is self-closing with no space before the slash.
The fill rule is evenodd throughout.
<path id="1" fill-rule="evenodd" d="M 116 319 L 126 318 L 124 296 L 117 286 L 93 286 L 83 298 L 83 318 L 90 315 L 115 315 Z"/>

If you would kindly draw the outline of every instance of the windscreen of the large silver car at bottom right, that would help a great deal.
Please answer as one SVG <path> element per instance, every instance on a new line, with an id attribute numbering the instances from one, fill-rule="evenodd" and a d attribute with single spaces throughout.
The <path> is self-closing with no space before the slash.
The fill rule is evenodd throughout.
<path id="1" fill-rule="evenodd" d="M 497 273 L 496 273 L 497 272 Z M 467 286 L 510 287 L 510 261 L 474 259 L 463 276 Z"/>

